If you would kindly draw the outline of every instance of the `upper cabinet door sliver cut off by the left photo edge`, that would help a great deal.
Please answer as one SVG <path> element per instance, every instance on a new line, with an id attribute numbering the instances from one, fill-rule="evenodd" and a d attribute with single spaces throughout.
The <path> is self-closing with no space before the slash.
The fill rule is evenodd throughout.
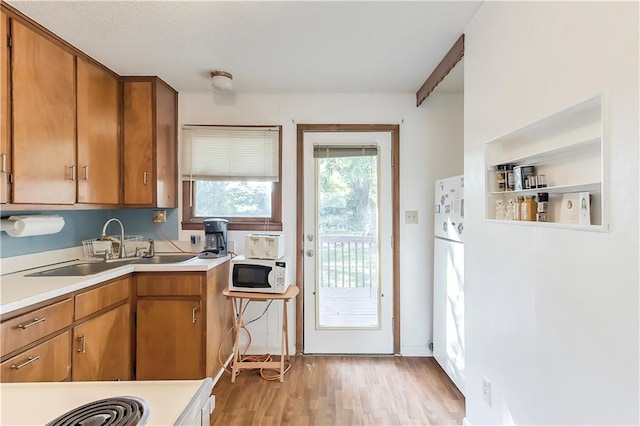
<path id="1" fill-rule="evenodd" d="M 9 97 L 11 80 L 9 78 L 9 17 L 0 13 L 0 203 L 9 201 L 9 165 L 11 164 L 9 139 L 11 137 L 11 115 Z"/>

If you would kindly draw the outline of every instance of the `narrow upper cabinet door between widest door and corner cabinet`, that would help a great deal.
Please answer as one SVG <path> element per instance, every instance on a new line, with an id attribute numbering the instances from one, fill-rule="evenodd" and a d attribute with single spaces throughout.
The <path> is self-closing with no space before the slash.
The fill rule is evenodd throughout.
<path id="1" fill-rule="evenodd" d="M 118 81 L 78 58 L 78 202 L 117 204 Z"/>

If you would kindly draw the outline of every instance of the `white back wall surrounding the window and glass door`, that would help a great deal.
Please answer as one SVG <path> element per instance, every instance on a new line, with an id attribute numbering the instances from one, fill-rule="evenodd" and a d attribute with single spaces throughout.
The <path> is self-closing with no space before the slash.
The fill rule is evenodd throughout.
<path id="1" fill-rule="evenodd" d="M 426 77 L 426 76 L 425 76 Z M 459 105 L 459 104 L 458 104 Z M 460 107 L 460 105 L 459 105 Z M 436 108 L 437 109 L 437 108 Z M 442 108 L 440 108 L 442 109 Z M 461 109 L 461 107 L 460 107 Z M 441 143 L 442 132 L 430 141 L 430 108 L 415 107 L 415 94 L 234 94 L 220 92 L 182 92 L 179 94 L 179 124 L 260 124 L 283 126 L 282 185 L 283 234 L 287 253 L 296 247 L 296 125 L 322 124 L 400 124 L 400 265 L 401 351 L 404 355 L 430 355 L 432 295 L 432 199 L 433 182 L 447 174 L 446 163 L 462 162 L 462 150 Z M 442 115 L 442 114 L 441 114 Z M 460 121 L 456 120 L 460 124 Z M 461 125 L 458 126 L 461 128 Z M 459 144 L 461 145 L 461 144 Z M 445 161 L 443 161 L 443 159 Z M 452 170 L 451 173 L 460 173 Z M 404 211 L 418 210 L 418 225 L 404 224 Z M 187 240 L 193 232 L 181 232 Z M 231 232 L 236 252 L 242 252 L 243 235 Z M 292 271 L 295 276 L 295 268 Z M 291 348 L 295 345 L 295 309 L 290 306 Z M 259 315 L 264 305 L 250 306 L 246 318 Z M 250 326 L 251 352 L 279 351 L 279 309 Z"/>

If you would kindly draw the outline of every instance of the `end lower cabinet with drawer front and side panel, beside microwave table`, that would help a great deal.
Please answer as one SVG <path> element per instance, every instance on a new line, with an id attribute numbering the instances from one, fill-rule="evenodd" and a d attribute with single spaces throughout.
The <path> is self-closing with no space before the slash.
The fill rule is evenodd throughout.
<path id="1" fill-rule="evenodd" d="M 215 377 L 231 354 L 229 262 L 200 273 L 136 274 L 136 379 Z"/>

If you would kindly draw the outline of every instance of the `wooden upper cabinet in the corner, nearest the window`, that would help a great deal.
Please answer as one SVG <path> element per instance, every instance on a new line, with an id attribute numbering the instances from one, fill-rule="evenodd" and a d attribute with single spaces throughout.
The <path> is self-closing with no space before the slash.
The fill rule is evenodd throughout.
<path id="1" fill-rule="evenodd" d="M 124 204 L 177 207 L 177 93 L 157 78 L 125 77 Z"/>

